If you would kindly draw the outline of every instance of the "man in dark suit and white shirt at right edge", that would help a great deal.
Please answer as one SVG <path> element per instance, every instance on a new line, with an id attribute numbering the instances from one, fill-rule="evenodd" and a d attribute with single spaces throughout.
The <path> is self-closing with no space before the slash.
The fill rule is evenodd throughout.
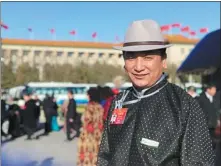
<path id="1" fill-rule="evenodd" d="M 200 95 L 198 100 L 206 115 L 209 132 L 213 140 L 213 147 L 215 148 L 215 129 L 217 127 L 220 109 L 220 102 L 216 97 L 216 86 L 213 84 L 208 84 L 205 88 L 205 92 Z"/>

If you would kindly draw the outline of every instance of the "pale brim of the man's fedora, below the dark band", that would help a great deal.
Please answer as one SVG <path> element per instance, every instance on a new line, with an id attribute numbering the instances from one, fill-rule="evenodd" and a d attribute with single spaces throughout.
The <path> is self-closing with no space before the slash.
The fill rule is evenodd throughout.
<path id="1" fill-rule="evenodd" d="M 168 48 L 171 46 L 172 44 L 167 44 L 163 46 L 162 45 L 140 45 L 140 46 L 127 46 L 127 47 L 114 46 L 113 48 L 116 50 L 121 50 L 121 51 L 137 52 L 137 51 L 158 50 L 162 48 Z"/>

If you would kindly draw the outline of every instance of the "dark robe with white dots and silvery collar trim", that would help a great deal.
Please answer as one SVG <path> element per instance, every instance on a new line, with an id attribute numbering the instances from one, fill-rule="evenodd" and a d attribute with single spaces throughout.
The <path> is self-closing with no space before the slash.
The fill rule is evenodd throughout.
<path id="1" fill-rule="evenodd" d="M 120 104 L 119 104 L 120 103 Z M 122 125 L 113 110 L 128 108 Z M 112 103 L 98 166 L 213 166 L 212 140 L 195 99 L 163 75 L 151 88 L 129 88 Z"/>

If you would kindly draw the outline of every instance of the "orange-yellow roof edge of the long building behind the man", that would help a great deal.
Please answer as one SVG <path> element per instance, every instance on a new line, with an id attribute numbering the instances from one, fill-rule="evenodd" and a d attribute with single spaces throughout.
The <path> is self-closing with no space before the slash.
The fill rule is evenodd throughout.
<path id="1" fill-rule="evenodd" d="M 189 39 L 182 35 L 165 35 L 165 38 L 172 44 L 193 44 L 199 39 Z M 78 47 L 78 48 L 104 48 L 112 49 L 113 46 L 121 43 L 104 43 L 89 41 L 52 41 L 52 40 L 27 40 L 27 39 L 2 39 L 3 45 L 29 45 L 29 46 L 49 46 L 49 47 Z"/>

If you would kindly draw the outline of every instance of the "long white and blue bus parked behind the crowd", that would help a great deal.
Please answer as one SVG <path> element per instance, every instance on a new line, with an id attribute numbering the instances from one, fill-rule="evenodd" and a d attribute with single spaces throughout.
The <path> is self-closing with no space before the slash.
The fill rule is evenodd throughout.
<path id="1" fill-rule="evenodd" d="M 90 87 L 97 87 L 97 84 L 74 84 L 71 82 L 30 82 L 22 87 L 23 88 L 20 88 L 16 94 L 21 95 L 22 90 L 26 90 L 31 94 L 36 94 L 42 101 L 44 100 L 46 94 L 50 96 L 54 95 L 58 105 L 61 105 L 64 100 L 68 99 L 67 91 L 72 90 L 76 103 L 79 105 L 88 103 L 87 90 Z"/>

